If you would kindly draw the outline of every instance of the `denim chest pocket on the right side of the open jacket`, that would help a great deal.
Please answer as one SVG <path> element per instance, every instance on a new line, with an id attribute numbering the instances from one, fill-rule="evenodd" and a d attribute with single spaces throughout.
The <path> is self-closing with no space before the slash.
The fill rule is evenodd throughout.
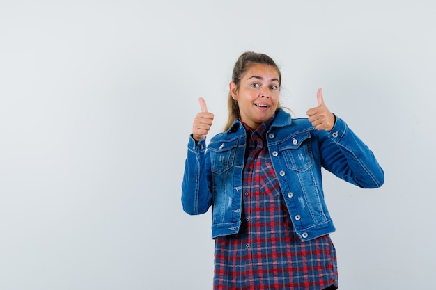
<path id="1" fill-rule="evenodd" d="M 279 144 L 279 151 L 283 154 L 286 167 L 304 172 L 313 166 L 311 134 L 303 132 L 290 136 L 286 142 Z"/>

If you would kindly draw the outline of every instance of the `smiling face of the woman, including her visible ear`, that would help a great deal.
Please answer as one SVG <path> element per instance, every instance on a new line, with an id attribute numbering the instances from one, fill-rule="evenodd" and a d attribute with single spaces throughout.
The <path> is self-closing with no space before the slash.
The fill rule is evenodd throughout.
<path id="1" fill-rule="evenodd" d="M 240 80 L 239 89 L 230 83 L 233 99 L 238 102 L 242 122 L 251 129 L 270 119 L 279 104 L 279 74 L 270 65 L 254 64 Z"/>

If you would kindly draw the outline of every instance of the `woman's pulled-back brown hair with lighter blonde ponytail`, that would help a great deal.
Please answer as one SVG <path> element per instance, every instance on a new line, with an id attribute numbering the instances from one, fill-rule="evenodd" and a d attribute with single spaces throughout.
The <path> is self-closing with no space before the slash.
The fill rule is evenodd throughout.
<path id="1" fill-rule="evenodd" d="M 232 74 L 232 81 L 236 85 L 236 90 L 239 90 L 240 81 L 242 79 L 242 76 L 249 70 L 251 65 L 255 64 L 262 64 L 262 65 L 270 65 L 274 67 L 274 69 L 277 70 L 277 74 L 279 74 L 279 88 L 281 87 L 281 73 L 279 70 L 279 67 L 276 63 L 270 58 L 270 56 L 267 56 L 266 54 L 259 54 L 253 51 L 246 51 L 243 54 L 240 55 L 238 60 L 235 63 L 235 67 L 233 67 L 233 74 Z M 227 131 L 233 122 L 235 122 L 236 119 L 240 118 L 239 113 L 239 106 L 238 102 L 233 99 L 231 92 L 228 92 L 228 99 L 227 99 L 227 108 L 228 108 L 228 118 L 226 126 L 224 127 L 224 131 Z M 279 106 L 277 106 L 277 110 L 279 110 Z"/>

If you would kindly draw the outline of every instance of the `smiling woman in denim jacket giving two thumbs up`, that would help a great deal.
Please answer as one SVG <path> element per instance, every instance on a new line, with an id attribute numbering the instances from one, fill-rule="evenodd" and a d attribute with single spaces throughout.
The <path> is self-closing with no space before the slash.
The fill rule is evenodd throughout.
<path id="1" fill-rule="evenodd" d="M 199 99 L 182 182 L 188 214 L 212 207 L 214 289 L 337 289 L 321 168 L 361 188 L 382 186 L 382 168 L 321 89 L 309 118 L 291 118 L 269 56 L 242 54 L 229 87 L 228 123 L 207 148 L 214 115 Z"/>

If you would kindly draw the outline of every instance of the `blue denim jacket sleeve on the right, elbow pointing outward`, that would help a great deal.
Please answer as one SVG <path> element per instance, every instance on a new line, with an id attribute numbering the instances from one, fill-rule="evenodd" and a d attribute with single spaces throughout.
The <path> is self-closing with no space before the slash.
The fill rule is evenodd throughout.
<path id="1" fill-rule="evenodd" d="M 384 172 L 373 152 L 336 116 L 331 131 L 318 131 L 322 166 L 337 177 L 361 188 L 377 188 Z"/>

